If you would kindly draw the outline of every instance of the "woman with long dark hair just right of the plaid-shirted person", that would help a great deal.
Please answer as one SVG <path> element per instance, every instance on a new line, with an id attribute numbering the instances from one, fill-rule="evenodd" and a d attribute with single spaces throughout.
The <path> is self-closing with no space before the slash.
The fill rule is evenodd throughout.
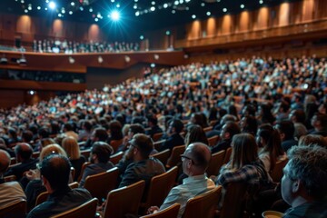
<path id="1" fill-rule="evenodd" d="M 287 158 L 282 150 L 282 141 L 277 130 L 270 124 L 259 126 L 257 133 L 257 143 L 262 145 L 263 149 L 259 153 L 259 158 L 264 164 L 265 170 L 269 173 L 273 170 L 277 161 Z"/>

